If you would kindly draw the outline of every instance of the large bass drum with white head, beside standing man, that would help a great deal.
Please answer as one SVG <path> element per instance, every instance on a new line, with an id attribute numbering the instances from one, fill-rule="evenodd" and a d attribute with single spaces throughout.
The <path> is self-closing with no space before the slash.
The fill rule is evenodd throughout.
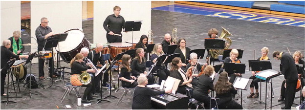
<path id="1" fill-rule="evenodd" d="M 84 32 L 79 29 L 70 29 L 65 31 L 65 33 L 68 33 L 67 38 L 65 41 L 59 42 L 59 46 L 56 49 L 60 52 L 63 61 L 70 63 L 83 47 L 90 48 L 90 42 L 87 40 Z"/>

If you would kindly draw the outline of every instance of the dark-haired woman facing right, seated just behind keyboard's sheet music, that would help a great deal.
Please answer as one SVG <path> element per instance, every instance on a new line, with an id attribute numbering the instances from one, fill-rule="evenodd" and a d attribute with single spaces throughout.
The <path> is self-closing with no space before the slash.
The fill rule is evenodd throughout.
<path id="1" fill-rule="evenodd" d="M 181 94 L 186 94 L 185 93 L 185 89 L 186 88 L 190 88 L 190 89 L 194 89 L 192 87 L 192 75 L 190 75 L 190 70 L 194 68 L 194 66 L 189 67 L 188 71 L 185 73 L 182 69 L 182 61 L 181 58 L 176 57 L 172 60 L 172 68 L 171 68 L 171 74 L 170 76 L 173 78 L 176 78 L 178 80 L 180 80 L 177 92 L 181 93 Z"/>

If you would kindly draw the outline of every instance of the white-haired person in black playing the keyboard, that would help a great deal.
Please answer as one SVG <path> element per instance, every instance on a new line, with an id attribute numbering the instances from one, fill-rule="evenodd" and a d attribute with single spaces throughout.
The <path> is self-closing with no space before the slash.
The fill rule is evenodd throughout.
<path id="1" fill-rule="evenodd" d="M 152 88 L 146 87 L 146 85 L 148 84 L 148 79 L 144 74 L 141 74 L 138 77 L 137 82 L 139 85 L 136 86 L 134 89 L 131 109 L 153 109 L 151 100 L 152 95 L 160 95 L 172 92 L 172 90 L 155 91 L 152 90 Z"/>

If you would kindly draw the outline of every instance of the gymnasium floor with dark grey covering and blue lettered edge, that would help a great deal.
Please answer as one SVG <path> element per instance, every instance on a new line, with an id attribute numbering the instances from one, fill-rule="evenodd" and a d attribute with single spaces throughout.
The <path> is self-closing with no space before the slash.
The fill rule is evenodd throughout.
<path id="1" fill-rule="evenodd" d="M 241 13 L 243 14 L 243 17 L 246 18 L 240 19 L 240 16 L 232 15 Z M 216 14 L 222 17 L 215 17 Z M 251 16 L 253 17 L 251 18 Z M 267 19 L 267 21 L 264 21 L 258 20 L 258 17 L 281 17 L 285 19 Z M 293 23 L 294 21 L 291 21 L 291 24 L 284 22 L 284 20 L 288 19 L 294 19 L 294 21 L 297 23 Z M 284 23 L 277 24 L 277 22 Z M 93 20 L 85 20 L 83 21 L 83 24 L 86 37 L 89 41 L 93 41 Z M 234 11 L 195 5 L 183 5 L 180 3 L 167 1 L 152 1 L 151 24 L 151 29 L 154 35 L 154 43 L 161 43 L 164 35 L 166 33 L 172 34 L 173 28 L 175 27 L 177 28 L 177 39 L 185 38 L 187 46 L 189 46 L 191 49 L 204 48 L 204 38 L 208 38 L 207 32 L 210 28 L 217 28 L 219 30 L 219 34 L 221 32 L 221 26 L 226 28 L 232 34 L 232 36 L 230 36 L 232 40 L 232 45 L 230 48 L 244 50 L 241 62 L 245 63 L 247 68 L 246 73 L 243 74 L 243 78 L 249 78 L 251 76 L 250 72 L 248 71 L 248 60 L 257 59 L 260 57 L 260 50 L 263 46 L 267 46 L 269 48 L 268 56 L 271 59 L 273 69 L 277 71 L 279 71 L 280 61 L 272 59 L 271 54 L 273 51 L 279 50 L 288 52 L 287 47 L 291 53 L 297 50 L 304 53 L 305 50 L 304 18 L 268 15 L 257 12 L 251 13 L 248 11 Z M 25 39 L 30 39 L 28 36 L 26 36 L 26 33 L 24 33 L 22 37 L 23 36 L 25 36 Z M 203 62 L 203 60 L 201 61 Z M 68 66 L 68 64 L 63 62 L 62 65 Z M 32 68 L 38 68 L 38 65 L 33 64 Z M 32 71 L 35 76 L 38 75 L 38 70 L 33 69 Z M 45 71 L 47 71 L 46 68 Z M 45 73 L 47 76 L 47 72 Z M 115 78 L 114 83 L 117 83 L 117 72 L 113 73 L 113 77 Z M 272 107 L 272 109 L 281 109 L 281 106 L 283 106 L 283 104 L 277 102 L 277 99 L 280 97 L 280 89 L 283 79 L 283 75 L 273 78 L 275 98 L 272 98 L 272 105 L 279 104 L 279 106 Z M 68 75 L 65 75 L 65 81 L 69 81 Z M 45 86 L 50 85 L 50 81 L 46 80 L 42 84 Z M 132 98 L 129 94 L 124 97 L 123 102 L 121 102 L 119 106 L 116 106 L 118 99 L 107 98 L 107 100 L 111 101 L 110 103 L 102 102 L 100 104 L 96 104 L 97 101 L 94 100 L 89 106 L 78 107 L 76 106 L 77 99 L 74 93 L 67 96 L 63 104 L 60 104 L 60 98 L 64 93 L 65 88 L 63 87 L 62 82 L 55 82 L 54 84 L 61 87 L 52 86 L 48 89 L 32 89 L 32 93 L 38 94 L 32 95 L 32 98 L 29 98 L 28 95 L 22 96 L 21 94 L 17 94 L 17 96 L 22 98 L 10 98 L 10 100 L 17 103 L 9 103 L 8 106 L 1 103 L 0 109 L 56 109 L 56 105 L 58 105 L 60 109 L 63 109 L 63 105 L 71 105 L 72 109 L 131 109 Z M 262 90 L 260 95 L 261 99 L 264 101 L 266 94 L 265 83 L 262 83 L 261 88 Z M 21 87 L 21 90 L 22 92 L 28 92 L 28 89 L 23 87 Z M 103 97 L 109 94 L 109 92 L 106 90 L 107 89 L 103 89 L 103 91 L 105 91 L 103 93 Z M 80 91 L 80 94 L 83 94 L 84 90 L 82 88 Z M 122 93 L 123 91 L 118 91 L 116 93 L 112 91 L 112 95 L 117 97 L 120 97 Z M 240 91 L 239 94 L 241 94 Z M 265 108 L 264 104 L 252 104 L 253 102 L 259 100 L 259 98 L 247 99 L 246 96 L 248 94 L 249 90 L 242 90 L 242 99 L 244 100 L 244 102 L 242 102 L 243 109 Z M 10 93 L 10 96 L 15 96 L 15 93 Z M 300 92 L 297 92 L 296 96 L 300 96 Z M 6 100 L 6 98 L 1 96 L 1 101 L 3 100 Z M 240 99 L 238 102 L 240 103 Z M 294 103 L 299 104 L 300 99 L 295 99 Z M 267 98 L 267 108 L 268 107 L 270 107 L 270 95 Z M 293 107 L 296 107 L 296 105 L 293 105 Z"/>

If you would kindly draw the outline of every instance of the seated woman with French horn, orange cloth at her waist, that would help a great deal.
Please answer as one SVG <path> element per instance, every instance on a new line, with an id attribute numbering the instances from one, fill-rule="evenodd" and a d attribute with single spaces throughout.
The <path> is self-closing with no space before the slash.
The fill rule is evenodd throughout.
<path id="1" fill-rule="evenodd" d="M 95 99 L 96 97 L 93 97 L 91 94 L 91 91 L 94 89 L 92 85 L 92 80 L 89 84 L 83 85 L 80 80 L 78 79 L 80 75 L 82 74 L 82 71 L 88 71 L 88 72 L 95 72 L 95 70 L 87 70 L 87 65 L 83 61 L 84 56 L 81 53 L 78 53 L 75 55 L 75 57 L 71 60 L 70 66 L 71 66 L 71 76 L 70 76 L 70 82 L 73 86 L 82 86 L 87 87 L 85 89 L 82 103 L 90 103 L 90 100 Z"/>

